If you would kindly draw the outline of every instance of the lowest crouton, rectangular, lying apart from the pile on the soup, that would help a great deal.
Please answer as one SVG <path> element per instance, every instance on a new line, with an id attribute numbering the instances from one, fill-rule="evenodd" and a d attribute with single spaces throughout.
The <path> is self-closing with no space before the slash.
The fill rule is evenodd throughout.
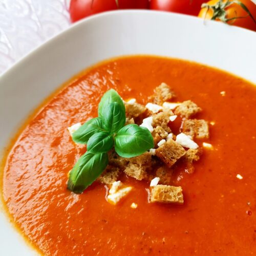
<path id="1" fill-rule="evenodd" d="M 181 187 L 156 185 L 151 190 L 151 202 L 183 204 Z"/>

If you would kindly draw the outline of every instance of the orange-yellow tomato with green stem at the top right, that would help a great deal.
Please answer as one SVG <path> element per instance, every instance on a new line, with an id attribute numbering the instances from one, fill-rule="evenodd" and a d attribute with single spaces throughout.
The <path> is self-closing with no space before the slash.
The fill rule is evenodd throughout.
<path id="1" fill-rule="evenodd" d="M 201 18 L 256 31 L 256 5 L 250 0 L 211 0 L 202 7 Z"/>

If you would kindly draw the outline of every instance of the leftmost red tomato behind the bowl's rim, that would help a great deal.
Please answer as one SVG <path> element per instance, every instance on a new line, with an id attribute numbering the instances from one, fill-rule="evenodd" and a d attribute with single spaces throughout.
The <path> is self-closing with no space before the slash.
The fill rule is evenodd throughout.
<path id="1" fill-rule="evenodd" d="M 99 12 L 117 9 L 147 9 L 148 5 L 148 0 L 71 0 L 69 12 L 71 21 L 76 22 Z"/>

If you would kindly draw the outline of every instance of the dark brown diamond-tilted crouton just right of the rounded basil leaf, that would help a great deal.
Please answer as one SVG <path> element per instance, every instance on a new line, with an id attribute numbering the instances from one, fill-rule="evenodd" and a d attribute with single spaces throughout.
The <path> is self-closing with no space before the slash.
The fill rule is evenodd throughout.
<path id="1" fill-rule="evenodd" d="M 159 157 L 168 167 L 172 167 L 175 162 L 186 154 L 184 148 L 169 139 L 156 149 L 156 156 Z"/>

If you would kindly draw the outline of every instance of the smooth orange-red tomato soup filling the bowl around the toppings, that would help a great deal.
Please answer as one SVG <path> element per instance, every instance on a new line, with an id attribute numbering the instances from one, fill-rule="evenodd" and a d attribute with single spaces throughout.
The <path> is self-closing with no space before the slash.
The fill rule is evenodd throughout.
<path id="1" fill-rule="evenodd" d="M 145 104 L 161 82 L 180 101 L 196 102 L 198 118 L 215 122 L 204 140 L 214 150 L 204 150 L 193 174 L 177 170 L 173 180 L 184 205 L 148 203 L 148 182 L 124 176 L 134 189 L 117 205 L 97 182 L 81 195 L 67 190 L 68 172 L 86 151 L 67 127 L 96 117 L 106 90 Z M 4 169 L 8 210 L 46 255 L 254 255 L 255 105 L 251 84 L 196 63 L 147 56 L 101 63 L 74 78 L 19 135 Z"/>

